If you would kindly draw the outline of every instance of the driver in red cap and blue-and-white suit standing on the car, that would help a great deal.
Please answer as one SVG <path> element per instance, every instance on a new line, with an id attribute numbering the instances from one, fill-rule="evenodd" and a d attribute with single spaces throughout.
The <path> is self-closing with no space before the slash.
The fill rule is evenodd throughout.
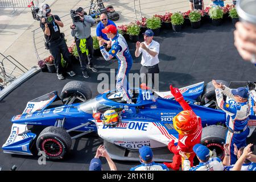
<path id="1" fill-rule="evenodd" d="M 133 59 L 125 38 L 123 38 L 121 34 L 117 33 L 117 27 L 115 27 L 113 24 L 106 26 L 102 32 L 112 40 L 112 48 L 109 52 L 106 51 L 103 46 L 104 41 L 100 40 L 99 43 L 102 56 L 106 61 L 112 59 L 114 56 L 116 56 L 118 59 L 117 84 L 115 87 L 117 88 L 118 92 L 122 92 L 123 100 L 125 100 L 127 104 L 133 104 L 131 101 L 131 97 L 133 96 L 131 96 L 129 82 L 127 81 L 131 66 L 133 65 Z"/>

